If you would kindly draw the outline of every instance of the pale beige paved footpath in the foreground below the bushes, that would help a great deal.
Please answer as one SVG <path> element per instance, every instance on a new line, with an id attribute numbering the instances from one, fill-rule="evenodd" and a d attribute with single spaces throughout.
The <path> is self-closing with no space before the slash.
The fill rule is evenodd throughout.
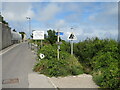
<path id="1" fill-rule="evenodd" d="M 47 77 L 42 74 L 28 75 L 29 88 L 99 88 L 91 75 L 81 74 L 67 77 Z"/>

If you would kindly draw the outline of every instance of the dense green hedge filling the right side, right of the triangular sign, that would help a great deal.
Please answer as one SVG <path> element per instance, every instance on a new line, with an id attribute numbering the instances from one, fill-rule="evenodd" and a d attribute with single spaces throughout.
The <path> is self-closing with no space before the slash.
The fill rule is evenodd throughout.
<path id="1" fill-rule="evenodd" d="M 75 44 L 75 55 L 84 67 L 85 73 L 104 88 L 119 88 L 119 49 L 115 40 L 87 39 Z"/>

